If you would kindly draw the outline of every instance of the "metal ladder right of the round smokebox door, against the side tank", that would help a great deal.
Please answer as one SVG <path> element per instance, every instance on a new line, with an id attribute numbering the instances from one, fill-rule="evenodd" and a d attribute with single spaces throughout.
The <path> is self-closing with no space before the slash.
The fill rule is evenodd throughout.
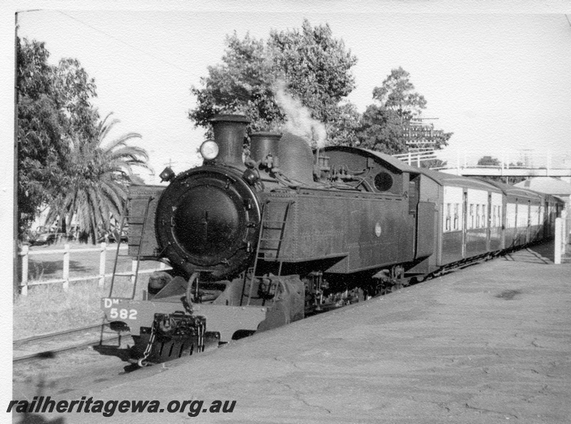
<path id="1" fill-rule="evenodd" d="M 291 205 L 294 203 L 295 201 L 292 200 L 288 200 L 288 201 L 278 201 L 273 199 L 271 200 L 266 200 L 263 203 L 262 206 L 262 216 L 261 216 L 261 223 L 260 223 L 260 233 L 258 233 L 258 245 L 256 246 L 256 256 L 254 256 L 254 266 L 253 268 L 251 268 L 251 277 L 250 277 L 250 291 L 248 292 L 248 303 L 246 303 L 246 305 L 250 305 L 250 300 L 252 298 L 252 289 L 253 289 L 253 283 L 254 280 L 256 278 L 263 278 L 263 276 L 257 276 L 256 275 L 256 271 L 258 271 L 258 259 L 261 259 L 260 257 L 260 251 L 275 251 L 275 255 L 274 255 L 274 259 L 278 260 L 279 256 L 280 256 L 280 250 L 281 250 L 281 242 L 283 241 L 283 237 L 285 234 L 285 224 L 288 222 L 288 215 L 289 215 L 289 211 L 290 211 L 290 207 Z M 272 203 L 273 205 L 278 205 L 281 204 L 284 206 L 283 209 L 283 221 L 279 221 L 279 220 L 269 220 L 268 219 L 268 205 Z M 274 226 L 272 226 L 274 225 Z M 263 237 L 263 233 L 264 230 L 269 230 L 269 231 L 279 231 L 279 236 L 277 238 L 275 237 Z M 268 247 L 268 246 L 264 246 L 263 249 L 261 249 L 261 244 L 262 242 L 273 242 L 276 243 L 276 247 Z M 265 258 L 265 257 L 264 257 Z M 283 266 L 283 261 L 279 261 L 279 268 L 278 268 L 278 277 L 281 276 L 281 268 Z M 244 288 L 246 288 L 246 276 L 244 276 Z M 242 291 L 242 300 L 244 297 L 244 293 Z M 263 304 L 265 304 L 266 301 L 263 301 Z M 240 302 L 240 304 L 242 304 L 242 301 Z"/>

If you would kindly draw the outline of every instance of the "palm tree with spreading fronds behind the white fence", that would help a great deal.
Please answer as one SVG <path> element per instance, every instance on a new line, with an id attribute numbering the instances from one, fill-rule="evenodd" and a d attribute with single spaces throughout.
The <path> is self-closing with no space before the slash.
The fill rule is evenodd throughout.
<path id="1" fill-rule="evenodd" d="M 75 216 L 82 233 L 94 244 L 120 219 L 126 189 L 137 178 L 133 167 L 151 170 L 146 151 L 126 143 L 141 138 L 140 134 L 126 133 L 106 142 L 111 128 L 119 122 L 111 120 L 111 115 L 98 122 L 96 136 L 71 143 L 66 185 L 51 203 L 46 220 L 49 225 L 58 217 L 65 219 L 69 228 Z"/>

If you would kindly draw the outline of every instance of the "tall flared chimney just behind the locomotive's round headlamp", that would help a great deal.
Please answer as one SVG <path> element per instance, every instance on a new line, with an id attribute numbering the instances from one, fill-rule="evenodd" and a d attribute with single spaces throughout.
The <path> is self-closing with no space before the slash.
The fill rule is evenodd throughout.
<path id="1" fill-rule="evenodd" d="M 210 121 L 218 144 L 218 159 L 226 165 L 243 168 L 244 137 L 250 120 L 243 115 L 217 115 Z"/>

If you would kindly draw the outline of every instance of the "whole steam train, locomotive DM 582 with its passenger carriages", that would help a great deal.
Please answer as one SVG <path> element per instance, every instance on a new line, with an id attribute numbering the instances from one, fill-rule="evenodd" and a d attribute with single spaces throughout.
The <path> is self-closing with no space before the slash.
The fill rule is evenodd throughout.
<path id="1" fill-rule="evenodd" d="M 168 186 L 130 189 L 128 253 L 170 267 L 151 276 L 142 300 L 101 300 L 111 328 L 130 330 L 139 365 L 545 240 L 563 208 L 363 148 L 312 151 L 292 133 L 252 133 L 245 154 L 245 116 L 211 123 L 202 166 L 166 168 Z"/>

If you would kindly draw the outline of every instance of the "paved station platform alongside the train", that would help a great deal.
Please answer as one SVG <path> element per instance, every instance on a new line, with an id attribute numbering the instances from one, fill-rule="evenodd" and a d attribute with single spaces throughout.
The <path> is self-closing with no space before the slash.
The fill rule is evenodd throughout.
<path id="1" fill-rule="evenodd" d="M 68 398 L 236 400 L 109 422 L 569 423 L 571 263 L 528 248 L 142 371 Z"/>

